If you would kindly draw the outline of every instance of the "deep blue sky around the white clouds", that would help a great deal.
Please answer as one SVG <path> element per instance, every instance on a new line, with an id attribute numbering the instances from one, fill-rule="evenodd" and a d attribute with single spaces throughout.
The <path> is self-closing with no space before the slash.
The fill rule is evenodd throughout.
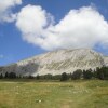
<path id="1" fill-rule="evenodd" d="M 37 10 L 37 5 L 39 5 L 41 8 L 41 11 L 45 10 L 46 13 L 50 13 L 54 17 L 54 22 L 55 22 L 54 25 L 59 24 L 59 21 L 62 21 L 68 14 L 70 10 L 79 10 L 80 8 L 83 8 L 83 6 L 86 6 L 86 8 L 95 6 L 96 11 L 104 17 L 104 19 L 106 22 L 108 21 L 108 0 L 23 0 L 22 3 L 14 4 L 14 8 L 11 8 L 10 5 L 9 6 L 10 12 L 8 13 L 8 15 L 15 14 L 15 13 L 18 14 L 21 10 L 27 6 L 28 4 L 30 4 L 30 8 L 35 5 L 36 10 Z M 8 10 L 4 10 L 4 11 L 8 11 Z M 3 14 L 4 11 L 1 11 L 0 15 L 4 15 Z M 10 15 L 8 16 L 8 18 L 10 18 Z M 40 44 L 37 45 L 36 41 L 35 43 L 33 41 L 29 41 L 28 39 L 24 40 L 23 35 L 24 37 L 26 37 L 27 33 L 24 33 L 23 29 L 19 29 L 22 28 L 19 23 L 17 24 L 18 27 L 16 26 L 16 22 L 18 19 L 19 17 L 17 19 L 9 22 L 6 19 L 4 21 L 1 18 L 1 22 L 0 22 L 0 65 L 1 66 L 51 51 L 51 48 L 48 45 L 46 48 L 44 48 Z M 91 38 L 89 39 L 89 41 L 90 40 Z M 62 44 L 56 45 L 56 48 L 53 45 L 52 48 L 54 49 L 52 50 L 56 50 L 57 48 L 63 49 L 64 44 L 63 45 Z M 52 44 L 49 44 L 49 45 L 52 45 Z M 66 45 L 71 46 L 71 44 L 66 44 Z M 75 44 L 72 45 L 73 48 L 77 46 Z M 107 46 L 103 46 L 98 42 L 93 46 L 93 49 L 95 49 L 98 52 L 102 52 L 104 55 L 108 55 Z"/>

